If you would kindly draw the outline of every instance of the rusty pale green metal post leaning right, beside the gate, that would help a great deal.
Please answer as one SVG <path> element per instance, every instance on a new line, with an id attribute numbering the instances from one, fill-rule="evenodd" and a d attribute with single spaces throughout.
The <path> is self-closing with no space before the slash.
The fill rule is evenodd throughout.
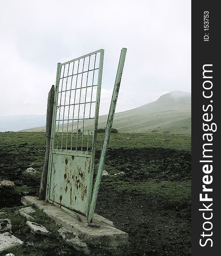
<path id="1" fill-rule="evenodd" d="M 117 74 L 116 74 L 116 80 L 115 80 L 115 84 L 114 84 L 114 88 L 113 88 L 113 95 L 112 95 L 112 99 L 111 99 L 111 106 L 110 106 L 110 110 L 109 110 L 109 114 L 108 114 L 108 122 L 107 122 L 107 126 L 105 129 L 104 143 L 103 143 L 103 147 L 102 147 L 102 151 L 101 151 L 101 155 L 100 155 L 99 166 L 98 166 L 98 170 L 97 170 L 97 174 L 96 174 L 96 180 L 94 183 L 94 191 L 93 191 L 93 195 L 92 195 L 92 199 L 91 199 L 91 206 L 90 206 L 89 213 L 88 213 L 88 223 L 92 222 L 93 216 L 94 216 L 94 210 L 95 210 L 96 200 L 97 200 L 97 196 L 98 196 L 98 192 L 99 192 L 99 186 L 100 186 L 100 182 L 101 182 L 102 171 L 103 171 L 103 166 L 104 166 L 104 162 L 105 162 L 105 156 L 106 156 L 106 153 L 108 150 L 108 142 L 110 139 L 111 128 L 112 128 L 112 124 L 113 124 L 113 117 L 114 117 L 114 113 L 115 113 L 116 102 L 117 102 L 117 97 L 118 97 L 118 93 L 119 93 L 119 87 L 120 87 L 126 52 L 127 52 L 126 48 L 123 48 L 121 50 L 119 65 L 118 65 Z"/>

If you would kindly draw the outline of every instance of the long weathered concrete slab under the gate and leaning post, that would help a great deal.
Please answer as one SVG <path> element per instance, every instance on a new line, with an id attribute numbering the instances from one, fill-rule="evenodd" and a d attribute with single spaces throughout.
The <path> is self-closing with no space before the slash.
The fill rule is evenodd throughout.
<path id="1" fill-rule="evenodd" d="M 68 232 L 79 237 L 89 247 L 119 247 L 128 242 L 128 234 L 113 227 L 113 222 L 95 214 L 93 223 L 99 228 L 88 226 L 87 218 L 79 215 L 72 215 L 69 212 L 45 201 L 38 200 L 37 197 L 26 196 L 22 198 L 23 204 L 33 205 L 40 209 L 57 224 L 65 227 Z"/>

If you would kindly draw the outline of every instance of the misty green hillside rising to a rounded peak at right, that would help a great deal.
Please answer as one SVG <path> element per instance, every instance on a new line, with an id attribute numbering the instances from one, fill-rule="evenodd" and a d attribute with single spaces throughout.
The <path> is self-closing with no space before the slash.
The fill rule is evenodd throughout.
<path id="1" fill-rule="evenodd" d="M 105 128 L 108 115 L 99 116 L 99 128 Z M 72 125 L 69 124 L 71 128 Z M 73 127 L 77 128 L 74 122 Z M 64 124 L 66 131 L 67 125 Z M 82 122 L 79 122 L 82 129 Z M 93 120 L 85 120 L 84 129 L 92 129 Z M 155 102 L 128 111 L 115 113 L 113 128 L 119 132 L 135 133 L 191 133 L 191 93 L 173 91 L 159 97 Z M 45 131 L 45 126 L 23 131 Z"/>

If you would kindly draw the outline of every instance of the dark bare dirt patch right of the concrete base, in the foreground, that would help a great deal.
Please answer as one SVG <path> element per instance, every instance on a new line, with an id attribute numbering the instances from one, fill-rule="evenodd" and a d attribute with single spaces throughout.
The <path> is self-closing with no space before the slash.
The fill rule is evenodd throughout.
<path id="1" fill-rule="evenodd" d="M 129 234 L 127 255 L 190 255 L 190 209 L 164 207 L 155 196 L 144 197 L 102 188 L 96 212 Z"/>

